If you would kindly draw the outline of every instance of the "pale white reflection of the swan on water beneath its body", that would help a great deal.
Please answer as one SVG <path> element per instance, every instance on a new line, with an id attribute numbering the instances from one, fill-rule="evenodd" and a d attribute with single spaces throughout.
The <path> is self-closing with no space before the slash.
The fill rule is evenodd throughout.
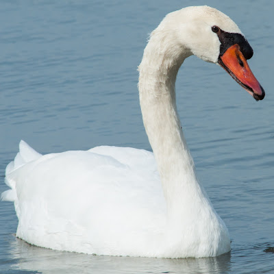
<path id="1" fill-rule="evenodd" d="M 10 247 L 12 268 L 18 273 L 226 273 L 230 269 L 230 253 L 199 259 L 91 256 L 34 247 L 18 238 Z"/>

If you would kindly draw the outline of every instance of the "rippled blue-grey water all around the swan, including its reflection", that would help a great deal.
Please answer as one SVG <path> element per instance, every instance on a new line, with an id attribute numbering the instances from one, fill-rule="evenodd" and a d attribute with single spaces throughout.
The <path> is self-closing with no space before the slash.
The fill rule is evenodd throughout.
<path id="1" fill-rule="evenodd" d="M 150 149 L 136 68 L 164 15 L 203 1 L 1 1 L 0 191 L 23 139 L 41 153 L 117 145 Z M 177 103 L 188 145 L 232 237 L 217 258 L 89 256 L 18 240 L 0 204 L 0 273 L 274 273 L 274 95 L 271 1 L 208 1 L 231 16 L 266 90 L 256 103 L 218 66 L 188 58 Z M 184 90 L 184 91 L 182 91 Z M 203 92 L 206 90 L 206 92 Z"/>

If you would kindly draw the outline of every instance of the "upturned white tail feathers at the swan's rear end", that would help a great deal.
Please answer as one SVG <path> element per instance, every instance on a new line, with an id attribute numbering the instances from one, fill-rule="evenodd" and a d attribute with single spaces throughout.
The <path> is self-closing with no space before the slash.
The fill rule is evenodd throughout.
<path id="1" fill-rule="evenodd" d="M 27 143 L 23 140 L 19 143 L 19 152 L 16 154 L 14 160 L 8 164 L 5 169 L 5 184 L 10 186 L 11 189 L 5 190 L 1 194 L 2 201 L 16 201 L 16 182 L 12 179 L 12 176 L 9 176 L 12 171 L 15 171 L 21 166 L 24 166 L 28 162 L 32 162 L 40 158 L 42 154 L 35 151 L 32 147 L 29 147 Z"/>

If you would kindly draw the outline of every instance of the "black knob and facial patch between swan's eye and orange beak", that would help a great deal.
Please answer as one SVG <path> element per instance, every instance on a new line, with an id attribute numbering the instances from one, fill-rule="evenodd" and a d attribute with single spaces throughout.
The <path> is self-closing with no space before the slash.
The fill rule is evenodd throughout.
<path id="1" fill-rule="evenodd" d="M 242 54 L 245 56 L 245 59 L 248 60 L 252 57 L 253 49 L 249 45 L 249 42 L 247 42 L 247 39 L 242 36 L 242 34 L 232 34 L 230 32 L 224 32 L 222 29 L 219 29 L 219 32 L 217 32 L 216 34 L 218 35 L 221 42 L 221 56 L 229 47 L 238 44 L 240 46 L 240 51 L 242 51 Z"/>

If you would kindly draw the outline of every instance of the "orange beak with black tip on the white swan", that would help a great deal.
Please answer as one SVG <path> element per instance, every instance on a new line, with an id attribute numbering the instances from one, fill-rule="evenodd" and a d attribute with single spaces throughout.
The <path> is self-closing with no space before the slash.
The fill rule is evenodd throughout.
<path id="1" fill-rule="evenodd" d="M 240 51 L 240 46 L 235 44 L 229 47 L 219 57 L 220 66 L 229 73 L 256 101 L 264 99 L 264 89 L 253 75 L 247 60 Z"/>

